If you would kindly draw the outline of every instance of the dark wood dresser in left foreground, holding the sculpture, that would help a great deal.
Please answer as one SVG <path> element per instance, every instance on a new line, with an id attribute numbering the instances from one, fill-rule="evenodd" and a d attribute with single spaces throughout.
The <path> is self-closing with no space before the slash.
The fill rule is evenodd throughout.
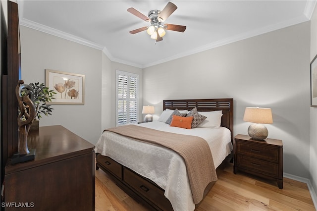
<path id="1" fill-rule="evenodd" d="M 93 144 L 54 125 L 30 131 L 28 148 L 35 160 L 5 166 L 5 211 L 95 210 Z"/>

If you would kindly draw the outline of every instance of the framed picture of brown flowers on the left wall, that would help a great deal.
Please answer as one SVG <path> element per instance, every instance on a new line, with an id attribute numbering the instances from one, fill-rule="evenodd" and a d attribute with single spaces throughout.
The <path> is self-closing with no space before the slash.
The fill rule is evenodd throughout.
<path id="1" fill-rule="evenodd" d="M 84 105 L 85 75 L 45 69 L 45 85 L 55 95 L 48 105 Z"/>

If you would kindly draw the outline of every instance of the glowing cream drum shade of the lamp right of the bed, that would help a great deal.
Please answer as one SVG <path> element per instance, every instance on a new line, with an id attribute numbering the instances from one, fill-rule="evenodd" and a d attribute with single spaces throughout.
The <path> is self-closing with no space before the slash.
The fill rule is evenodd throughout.
<path id="1" fill-rule="evenodd" d="M 273 118 L 271 108 L 246 107 L 243 120 L 246 122 L 272 124 Z"/>

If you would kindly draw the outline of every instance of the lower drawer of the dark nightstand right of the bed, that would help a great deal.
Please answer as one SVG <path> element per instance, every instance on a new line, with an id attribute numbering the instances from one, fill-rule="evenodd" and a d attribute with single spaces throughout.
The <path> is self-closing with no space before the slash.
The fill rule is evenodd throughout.
<path id="1" fill-rule="evenodd" d="M 250 158 L 247 156 L 237 155 L 236 165 L 239 167 L 247 167 L 258 172 L 269 174 L 273 177 L 278 177 L 278 163 L 267 162 L 261 159 Z"/>

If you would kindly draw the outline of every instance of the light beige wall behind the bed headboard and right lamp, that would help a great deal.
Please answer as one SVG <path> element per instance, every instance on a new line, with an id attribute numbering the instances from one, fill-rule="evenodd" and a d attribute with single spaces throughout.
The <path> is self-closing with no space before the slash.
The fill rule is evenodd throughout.
<path id="1" fill-rule="evenodd" d="M 282 139 L 284 172 L 309 177 L 310 22 L 144 69 L 143 104 L 234 99 L 234 134 L 247 134 L 246 106 L 271 107 L 269 137 Z"/>

